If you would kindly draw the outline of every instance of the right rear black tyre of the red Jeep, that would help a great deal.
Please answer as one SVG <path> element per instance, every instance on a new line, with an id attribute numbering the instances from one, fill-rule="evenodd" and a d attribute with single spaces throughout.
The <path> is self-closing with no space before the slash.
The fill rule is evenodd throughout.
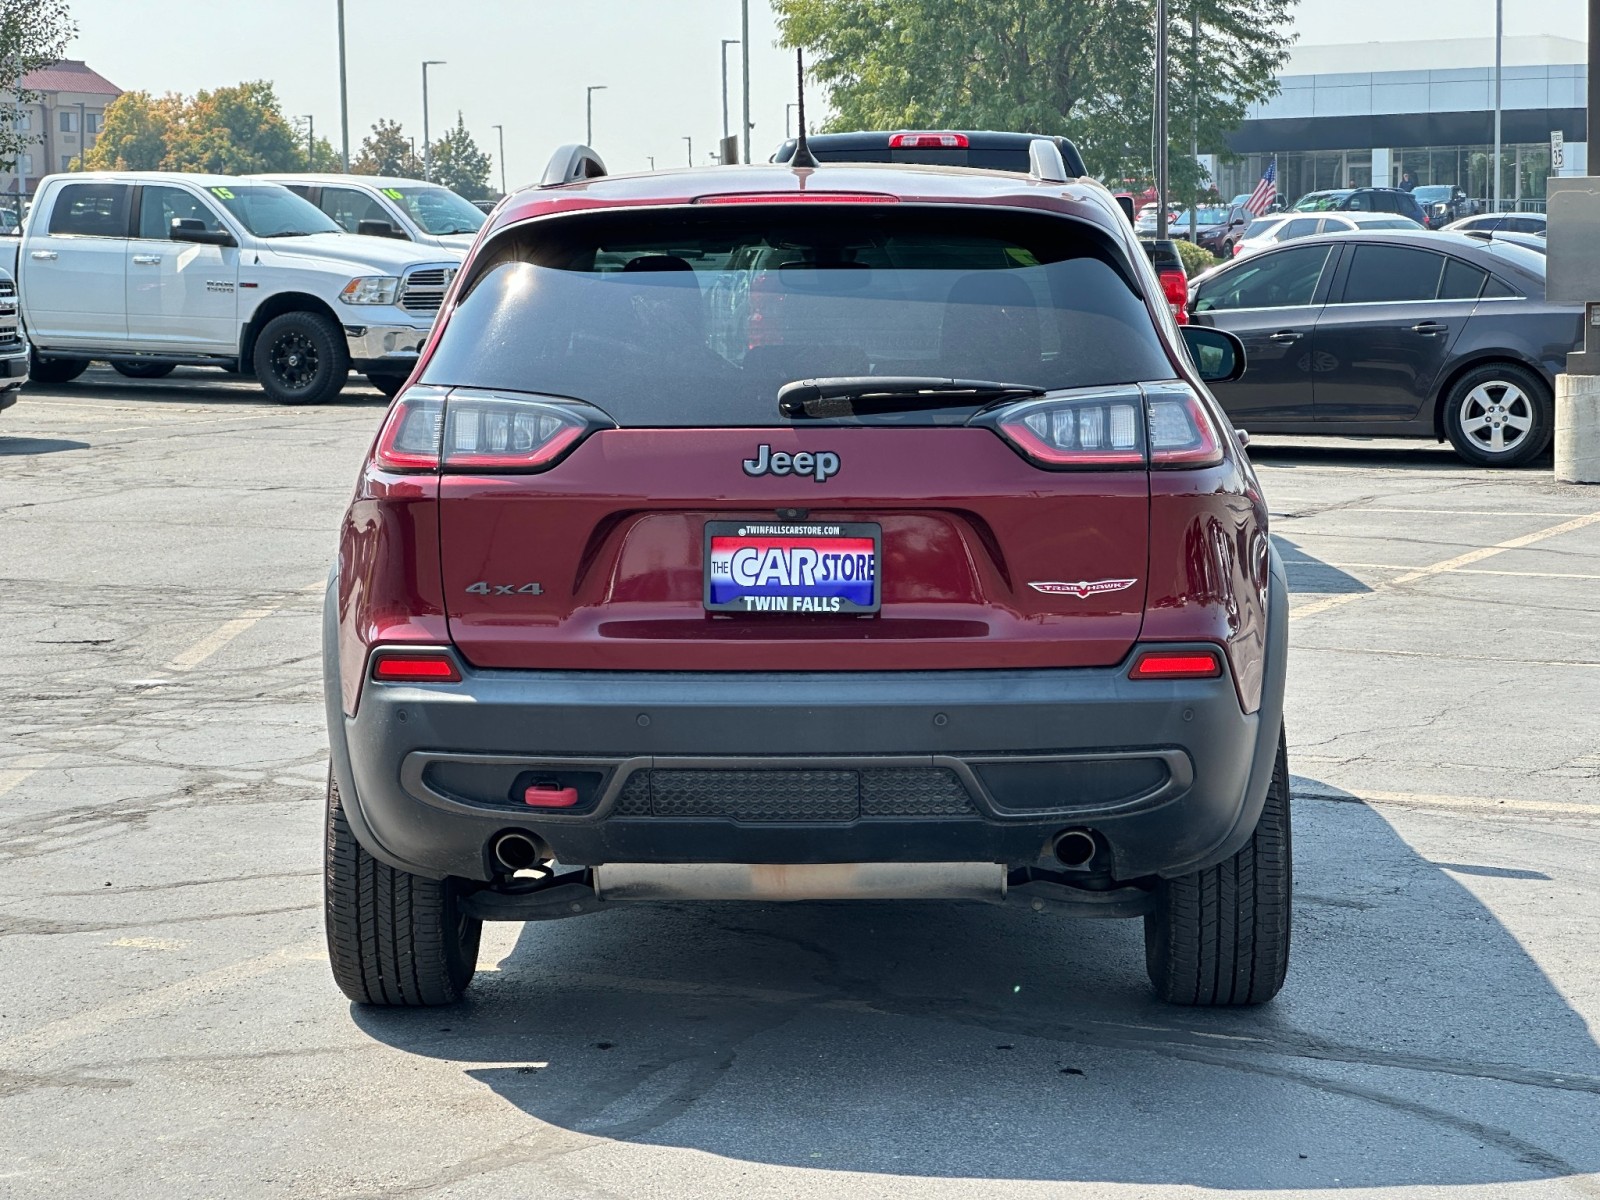
<path id="1" fill-rule="evenodd" d="M 1256 832 L 1234 858 L 1162 880 L 1144 918 L 1144 966 L 1173 1005 L 1259 1005 L 1283 987 L 1293 893 L 1283 734 Z"/>

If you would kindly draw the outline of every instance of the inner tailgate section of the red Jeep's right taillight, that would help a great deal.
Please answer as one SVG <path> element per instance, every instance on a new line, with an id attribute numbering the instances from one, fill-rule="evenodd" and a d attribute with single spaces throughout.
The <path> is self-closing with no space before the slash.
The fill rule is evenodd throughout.
<path id="1" fill-rule="evenodd" d="M 1093 392 L 1027 400 L 982 422 L 1042 467 L 1142 467 L 1142 406 L 1138 389 Z"/>

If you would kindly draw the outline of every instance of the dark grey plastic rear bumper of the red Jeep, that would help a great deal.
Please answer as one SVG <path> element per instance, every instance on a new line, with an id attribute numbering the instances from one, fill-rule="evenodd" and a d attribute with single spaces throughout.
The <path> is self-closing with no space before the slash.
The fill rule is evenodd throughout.
<path id="1" fill-rule="evenodd" d="M 1286 590 L 1274 560 L 1266 690 L 1131 682 L 1126 667 L 861 674 L 536 672 L 368 682 L 341 709 L 334 778 L 357 837 L 422 875 L 488 880 L 502 832 L 571 866 L 1000 862 L 1054 866 L 1090 829 L 1096 870 L 1182 875 L 1238 850 L 1283 714 Z M 730 774 L 738 773 L 738 774 Z M 750 774 L 762 773 L 762 774 Z M 578 808 L 522 803 L 533 779 Z M 725 802 L 725 803 L 723 803 Z M 723 803 L 718 808 L 718 803 Z"/>

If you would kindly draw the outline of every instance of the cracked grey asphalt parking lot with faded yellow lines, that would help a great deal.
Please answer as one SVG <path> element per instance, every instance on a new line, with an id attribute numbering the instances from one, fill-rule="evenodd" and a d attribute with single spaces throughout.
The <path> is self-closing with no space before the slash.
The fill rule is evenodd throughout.
<path id="1" fill-rule="evenodd" d="M 1138 925 L 650 906 L 362 1011 L 318 610 L 382 400 L 96 368 L 0 414 L 0 1195 L 1600 1197 L 1600 488 L 1261 438 L 1290 982 Z"/>

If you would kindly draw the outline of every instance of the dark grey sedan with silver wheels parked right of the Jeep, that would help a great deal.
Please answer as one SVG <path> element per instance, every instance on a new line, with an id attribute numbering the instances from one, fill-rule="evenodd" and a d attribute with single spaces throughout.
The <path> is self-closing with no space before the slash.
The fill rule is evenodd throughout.
<path id="1" fill-rule="evenodd" d="M 1250 374 L 1214 392 L 1250 432 L 1448 438 L 1488 467 L 1549 445 L 1582 338 L 1542 254 L 1464 234 L 1301 238 L 1202 275 L 1189 309 L 1245 342 Z"/>

